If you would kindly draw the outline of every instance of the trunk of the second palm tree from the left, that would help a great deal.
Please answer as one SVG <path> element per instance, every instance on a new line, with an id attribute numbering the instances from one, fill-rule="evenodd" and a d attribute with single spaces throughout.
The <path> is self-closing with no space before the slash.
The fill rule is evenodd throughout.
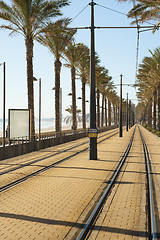
<path id="1" fill-rule="evenodd" d="M 61 62 L 57 59 L 54 63 L 55 67 L 55 129 L 56 134 L 59 135 L 61 132 L 60 123 L 60 72 L 61 72 Z"/>

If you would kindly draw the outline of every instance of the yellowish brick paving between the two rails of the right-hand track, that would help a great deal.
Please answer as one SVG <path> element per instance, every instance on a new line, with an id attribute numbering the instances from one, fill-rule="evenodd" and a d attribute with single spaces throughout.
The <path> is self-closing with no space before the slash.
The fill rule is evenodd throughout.
<path id="1" fill-rule="evenodd" d="M 129 157 L 89 239 L 147 239 L 146 177 L 136 130 Z"/>

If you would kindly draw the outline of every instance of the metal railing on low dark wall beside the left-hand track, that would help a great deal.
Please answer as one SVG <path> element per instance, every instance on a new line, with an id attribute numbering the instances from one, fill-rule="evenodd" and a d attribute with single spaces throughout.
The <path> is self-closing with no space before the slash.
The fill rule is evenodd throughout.
<path id="1" fill-rule="evenodd" d="M 103 127 L 98 132 L 114 129 L 115 126 Z M 6 138 L 5 147 L 3 147 L 3 139 L 0 142 L 0 160 L 11 157 L 20 156 L 22 154 L 38 151 L 48 147 L 56 146 L 62 143 L 74 141 L 88 136 L 88 129 L 64 130 L 60 133 L 45 132 L 35 134 L 34 136 L 8 139 Z"/>

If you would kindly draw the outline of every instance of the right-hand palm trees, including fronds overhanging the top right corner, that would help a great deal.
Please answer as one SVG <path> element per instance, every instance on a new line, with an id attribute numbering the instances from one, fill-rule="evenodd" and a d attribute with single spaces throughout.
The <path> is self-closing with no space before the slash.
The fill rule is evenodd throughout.
<path id="1" fill-rule="evenodd" d="M 127 0 L 118 0 L 126 2 Z M 129 0 L 128 0 L 129 1 Z M 133 18 L 132 24 L 148 21 L 154 22 L 153 33 L 160 26 L 160 1 L 133 0 L 133 8 L 128 12 L 128 17 Z M 150 22 L 149 22 L 150 24 Z M 139 65 L 137 74 L 137 97 L 139 99 L 136 114 L 143 123 L 160 131 L 160 48 L 150 52 L 150 57 L 144 57 Z M 152 114 L 153 105 L 153 114 Z"/>

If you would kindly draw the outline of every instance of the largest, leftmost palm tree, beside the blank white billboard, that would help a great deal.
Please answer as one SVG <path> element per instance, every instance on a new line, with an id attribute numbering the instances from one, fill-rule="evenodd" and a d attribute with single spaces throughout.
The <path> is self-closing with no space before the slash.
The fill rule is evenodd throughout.
<path id="1" fill-rule="evenodd" d="M 52 17 L 62 15 L 60 8 L 67 6 L 68 0 L 12 0 L 12 5 L 0 1 L 0 18 L 7 22 L 1 25 L 12 33 L 19 33 L 25 39 L 27 60 L 28 108 L 32 112 L 31 135 L 34 127 L 34 94 L 33 94 L 33 41 L 44 31 L 45 23 Z"/>

